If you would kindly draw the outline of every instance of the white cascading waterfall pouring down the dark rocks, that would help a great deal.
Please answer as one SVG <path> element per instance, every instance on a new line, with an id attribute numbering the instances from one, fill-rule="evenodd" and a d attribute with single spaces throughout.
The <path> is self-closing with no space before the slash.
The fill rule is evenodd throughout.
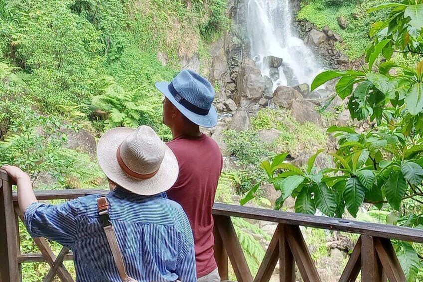
<path id="1" fill-rule="evenodd" d="M 246 1 L 251 55 L 262 75 L 272 79 L 273 90 L 279 85 L 310 84 L 322 68 L 312 51 L 292 32 L 289 0 Z M 268 56 L 282 58 L 282 65 L 271 67 Z"/>

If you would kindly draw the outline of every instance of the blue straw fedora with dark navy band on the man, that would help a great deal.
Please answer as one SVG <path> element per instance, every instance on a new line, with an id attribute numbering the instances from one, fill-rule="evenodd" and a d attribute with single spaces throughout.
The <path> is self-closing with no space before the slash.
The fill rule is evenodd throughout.
<path id="1" fill-rule="evenodd" d="M 216 126 L 217 112 L 213 106 L 214 88 L 200 74 L 183 70 L 172 82 L 157 82 L 156 87 L 195 124 L 203 127 Z"/>

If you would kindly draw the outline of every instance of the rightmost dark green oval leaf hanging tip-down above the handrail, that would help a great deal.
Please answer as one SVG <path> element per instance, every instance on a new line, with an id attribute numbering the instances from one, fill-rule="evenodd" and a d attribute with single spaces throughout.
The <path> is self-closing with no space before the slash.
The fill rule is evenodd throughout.
<path id="1" fill-rule="evenodd" d="M 407 182 L 401 171 L 397 170 L 390 175 L 385 185 L 385 196 L 388 203 L 397 211 L 407 190 Z"/>

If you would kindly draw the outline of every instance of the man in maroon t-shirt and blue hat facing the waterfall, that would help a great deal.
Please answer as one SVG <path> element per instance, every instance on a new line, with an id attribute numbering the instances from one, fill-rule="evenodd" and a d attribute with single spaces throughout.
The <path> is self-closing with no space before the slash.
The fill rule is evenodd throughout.
<path id="1" fill-rule="evenodd" d="M 214 127 L 214 88 L 206 78 L 183 70 L 172 82 L 156 83 L 165 95 L 163 122 L 173 140 L 168 146 L 179 163 L 179 176 L 168 197 L 181 204 L 194 232 L 199 282 L 220 282 L 214 260 L 212 207 L 222 170 L 222 154 L 216 142 L 200 127 Z"/>

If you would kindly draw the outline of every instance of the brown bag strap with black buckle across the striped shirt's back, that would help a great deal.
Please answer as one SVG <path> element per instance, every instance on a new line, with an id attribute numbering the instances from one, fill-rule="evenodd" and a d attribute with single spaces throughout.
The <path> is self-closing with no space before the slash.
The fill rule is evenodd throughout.
<path id="1" fill-rule="evenodd" d="M 118 241 L 116 240 L 116 234 L 113 230 L 113 225 L 109 220 L 109 203 L 107 202 L 106 197 L 97 198 L 97 205 L 98 215 L 100 216 L 104 233 L 106 233 L 107 242 L 109 243 L 110 249 L 112 251 L 113 259 L 116 266 L 118 267 L 119 276 L 124 282 L 135 281 L 126 274 L 122 253 L 119 249 Z"/>

